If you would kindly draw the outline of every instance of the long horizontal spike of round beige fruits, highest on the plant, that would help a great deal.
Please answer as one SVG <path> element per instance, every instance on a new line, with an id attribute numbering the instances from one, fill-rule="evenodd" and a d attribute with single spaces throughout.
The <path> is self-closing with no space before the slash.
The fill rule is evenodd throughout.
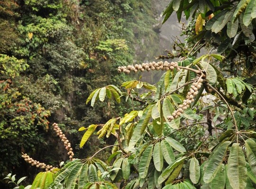
<path id="1" fill-rule="evenodd" d="M 137 73 L 138 70 L 140 70 L 141 72 L 143 71 L 150 71 L 150 70 L 174 70 L 174 68 L 176 68 L 178 71 L 180 70 L 180 68 L 178 67 L 178 63 L 177 62 L 149 62 L 149 63 L 142 63 L 142 64 L 135 64 L 135 66 L 133 65 L 128 65 L 126 66 L 119 66 L 118 67 L 118 72 L 124 72 L 124 73 L 130 73 L 130 71 L 134 71 L 134 73 Z"/>

